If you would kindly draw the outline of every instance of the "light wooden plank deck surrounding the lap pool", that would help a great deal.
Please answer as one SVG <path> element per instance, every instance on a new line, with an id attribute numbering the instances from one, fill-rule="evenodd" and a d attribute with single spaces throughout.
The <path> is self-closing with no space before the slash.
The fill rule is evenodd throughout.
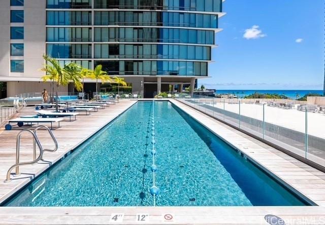
<path id="1" fill-rule="evenodd" d="M 111 217 L 123 214 L 123 224 L 268 224 L 264 216 L 274 214 L 285 224 L 325 224 L 325 174 L 285 155 L 277 149 L 226 126 L 199 111 L 177 101 L 172 103 L 206 126 L 229 144 L 239 149 L 249 159 L 283 180 L 318 206 L 304 207 L 1 207 L 0 224 L 114 224 Z M 75 122 L 62 122 L 54 130 L 59 149 L 45 153 L 44 164 L 21 167 L 23 173 L 15 180 L 4 183 L 8 168 L 14 163 L 16 135 L 19 130 L 4 131 L 0 128 L 0 201 L 40 174 L 49 165 L 120 115 L 136 101 L 123 100 L 91 116 L 77 116 Z M 32 115 L 34 108 L 24 108 L 19 114 Z M 47 147 L 48 134 L 40 131 L 41 142 Z M 22 141 L 28 142 L 29 136 Z M 27 140 L 27 141 L 26 141 Z M 22 148 L 21 161 L 32 157 L 31 141 Z M 247 181 L 249 182 L 249 181 Z M 138 214 L 149 215 L 138 221 Z M 169 220 L 169 218 L 173 217 Z M 168 219 L 166 219 L 168 218 Z M 116 223 L 116 222 L 115 222 Z"/>

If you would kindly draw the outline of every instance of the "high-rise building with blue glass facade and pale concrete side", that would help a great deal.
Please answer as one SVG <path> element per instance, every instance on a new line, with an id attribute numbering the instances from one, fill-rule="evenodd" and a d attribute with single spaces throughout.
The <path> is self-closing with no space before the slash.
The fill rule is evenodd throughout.
<path id="1" fill-rule="evenodd" d="M 144 97 L 169 85 L 193 89 L 209 76 L 223 14 L 222 0 L 2 0 L 0 81 L 9 96 L 49 89 L 40 71 L 48 54 L 62 64 L 102 64 Z M 93 89 L 88 81 L 85 91 Z"/>

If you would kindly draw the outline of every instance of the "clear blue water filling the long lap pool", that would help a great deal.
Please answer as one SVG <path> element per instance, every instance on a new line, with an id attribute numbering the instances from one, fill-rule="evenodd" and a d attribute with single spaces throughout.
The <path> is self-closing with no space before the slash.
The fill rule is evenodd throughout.
<path id="1" fill-rule="evenodd" d="M 156 206 L 306 205 L 170 102 L 149 101 L 136 103 L 6 206 L 153 206 L 153 177 Z"/>

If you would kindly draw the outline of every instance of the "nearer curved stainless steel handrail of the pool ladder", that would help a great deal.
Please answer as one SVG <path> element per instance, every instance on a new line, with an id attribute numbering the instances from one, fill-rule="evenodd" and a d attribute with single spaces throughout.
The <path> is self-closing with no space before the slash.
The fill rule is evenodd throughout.
<path id="1" fill-rule="evenodd" d="M 20 136 L 22 133 L 24 132 L 28 132 L 30 133 L 32 136 L 33 136 L 33 139 L 36 141 L 39 149 L 40 149 L 40 155 L 37 159 L 33 160 L 33 161 L 30 161 L 30 162 L 23 162 L 23 163 L 19 163 L 19 152 L 20 152 Z M 17 135 L 17 138 L 16 138 L 16 164 L 14 164 L 13 166 L 11 166 L 7 172 L 7 178 L 5 180 L 5 182 L 9 182 L 11 181 L 11 178 L 10 178 L 10 174 L 11 174 L 11 171 L 16 168 L 16 176 L 20 175 L 19 174 L 19 166 L 24 166 L 24 165 L 31 165 L 31 164 L 34 164 L 34 163 L 37 163 L 38 161 L 40 161 L 43 157 L 43 147 L 40 143 L 40 140 L 39 138 L 36 136 L 36 134 L 34 132 L 32 132 L 31 130 L 29 129 L 24 129 L 22 131 L 20 131 Z"/>

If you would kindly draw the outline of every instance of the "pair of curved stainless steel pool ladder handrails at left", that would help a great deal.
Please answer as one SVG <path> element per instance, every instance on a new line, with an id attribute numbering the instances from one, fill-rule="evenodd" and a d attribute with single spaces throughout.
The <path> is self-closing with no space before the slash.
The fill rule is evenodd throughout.
<path id="1" fill-rule="evenodd" d="M 41 128 L 44 128 L 45 130 L 47 130 L 54 142 L 54 149 L 44 149 L 41 142 L 40 142 L 40 139 L 38 138 L 37 136 L 37 131 Z M 20 136 L 23 134 L 23 133 L 30 133 L 32 135 L 32 138 L 33 138 L 33 160 L 30 161 L 30 162 L 22 162 L 20 163 L 19 162 L 19 153 L 20 153 Z M 39 150 L 40 150 L 40 155 L 38 157 L 37 154 L 36 154 L 36 145 L 38 146 Z M 12 179 L 10 178 L 10 174 L 11 174 L 11 171 L 16 168 L 16 172 L 15 172 L 15 175 L 14 176 L 19 176 L 20 173 L 19 173 L 19 166 L 26 166 L 26 165 L 32 165 L 32 164 L 35 164 L 37 162 L 39 162 L 40 160 L 43 160 L 43 153 L 45 151 L 47 152 L 55 152 L 58 148 L 58 143 L 57 143 L 57 140 L 56 138 L 54 137 L 54 134 L 53 132 L 46 126 L 43 126 L 43 125 L 39 125 L 37 126 L 34 131 L 31 131 L 29 129 L 24 129 L 22 131 L 20 131 L 18 134 L 17 134 L 17 137 L 16 137 L 16 163 L 11 166 L 7 172 L 7 178 L 5 180 L 5 182 L 10 182 Z"/>

